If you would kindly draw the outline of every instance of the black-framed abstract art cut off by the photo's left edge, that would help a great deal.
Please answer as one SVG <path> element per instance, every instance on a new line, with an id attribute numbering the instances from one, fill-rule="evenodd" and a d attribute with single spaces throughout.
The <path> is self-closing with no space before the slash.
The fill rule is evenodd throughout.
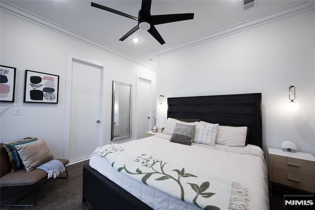
<path id="1" fill-rule="evenodd" d="M 14 102 L 16 68 L 0 65 L 0 102 Z"/>

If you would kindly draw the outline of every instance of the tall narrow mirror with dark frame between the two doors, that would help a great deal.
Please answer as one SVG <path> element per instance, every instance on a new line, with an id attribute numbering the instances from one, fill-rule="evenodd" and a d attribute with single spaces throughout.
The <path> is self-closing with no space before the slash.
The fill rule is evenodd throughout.
<path id="1" fill-rule="evenodd" d="M 112 140 L 131 137 L 132 85 L 113 81 Z"/>

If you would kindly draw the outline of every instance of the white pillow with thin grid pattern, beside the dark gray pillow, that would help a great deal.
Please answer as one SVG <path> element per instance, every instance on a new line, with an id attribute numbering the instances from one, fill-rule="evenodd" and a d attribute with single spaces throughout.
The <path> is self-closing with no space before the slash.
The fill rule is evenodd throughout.
<path id="1" fill-rule="evenodd" d="M 214 146 L 218 134 L 219 124 L 196 122 L 194 143 L 202 143 Z"/>

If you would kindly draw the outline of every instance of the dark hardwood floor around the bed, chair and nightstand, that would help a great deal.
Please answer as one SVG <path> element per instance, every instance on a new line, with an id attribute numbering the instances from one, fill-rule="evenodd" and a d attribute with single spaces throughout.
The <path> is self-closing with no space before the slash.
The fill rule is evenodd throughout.
<path id="1" fill-rule="evenodd" d="M 1 210 L 93 210 L 88 202 L 82 202 L 82 175 L 83 165 L 89 161 L 83 161 L 67 167 L 69 177 L 67 179 L 45 180 L 37 190 L 37 202 L 34 207 L 1 207 Z M 64 174 L 61 174 L 62 176 Z M 26 188 L 2 189 L 1 204 L 16 202 L 19 204 L 32 203 L 34 191 Z M 284 195 L 298 195 L 303 192 L 287 189 L 273 184 L 272 196 L 270 196 L 270 210 L 284 210 Z M 304 192 L 305 194 L 305 192 Z M 12 201 L 12 199 L 14 199 Z M 301 210 L 297 208 L 285 208 L 285 210 Z"/>

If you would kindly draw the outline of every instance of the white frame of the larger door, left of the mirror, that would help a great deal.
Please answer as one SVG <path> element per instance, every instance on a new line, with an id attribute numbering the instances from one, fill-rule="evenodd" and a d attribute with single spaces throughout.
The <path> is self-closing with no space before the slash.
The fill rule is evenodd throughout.
<path id="1" fill-rule="evenodd" d="M 100 69 L 101 74 L 101 89 L 100 89 L 100 129 L 99 129 L 99 140 L 98 146 L 101 146 L 103 140 L 105 140 L 105 119 L 106 119 L 106 70 L 102 63 L 96 62 L 92 59 L 81 58 L 79 56 L 68 55 L 67 56 L 67 69 L 65 78 L 65 107 L 64 107 L 64 135 L 63 135 L 63 156 L 66 159 L 70 158 L 70 134 L 71 134 L 71 96 L 72 96 L 72 63 L 78 62 L 81 64 L 86 64 Z M 69 163 L 69 165 L 76 162 Z"/>

